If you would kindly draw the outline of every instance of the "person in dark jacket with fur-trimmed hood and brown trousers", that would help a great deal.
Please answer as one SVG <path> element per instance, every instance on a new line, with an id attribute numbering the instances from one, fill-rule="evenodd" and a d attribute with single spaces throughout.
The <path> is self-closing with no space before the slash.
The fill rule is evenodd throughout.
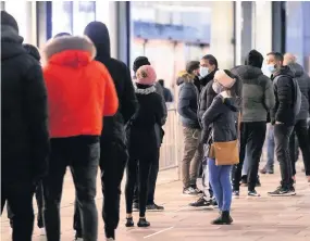
<path id="1" fill-rule="evenodd" d="M 196 181 L 198 166 L 203 156 L 200 144 L 201 128 L 197 117 L 199 90 L 195 78 L 199 73 L 199 62 L 191 61 L 186 66 L 186 72 L 179 73 L 177 112 L 181 115 L 184 135 L 184 155 L 182 160 L 183 193 L 195 195 L 200 193 Z"/>

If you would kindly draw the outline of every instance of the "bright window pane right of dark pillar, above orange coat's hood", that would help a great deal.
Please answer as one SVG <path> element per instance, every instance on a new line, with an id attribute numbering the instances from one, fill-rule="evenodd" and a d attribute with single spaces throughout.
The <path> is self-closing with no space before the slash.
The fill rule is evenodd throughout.
<path id="1" fill-rule="evenodd" d="M 59 33 L 72 34 L 72 1 L 52 1 L 52 36 Z"/>

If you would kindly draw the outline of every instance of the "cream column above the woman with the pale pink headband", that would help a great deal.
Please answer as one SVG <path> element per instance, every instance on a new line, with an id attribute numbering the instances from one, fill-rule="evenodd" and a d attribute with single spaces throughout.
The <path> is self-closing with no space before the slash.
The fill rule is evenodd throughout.
<path id="1" fill-rule="evenodd" d="M 212 1 L 210 53 L 220 68 L 234 66 L 234 2 Z"/>

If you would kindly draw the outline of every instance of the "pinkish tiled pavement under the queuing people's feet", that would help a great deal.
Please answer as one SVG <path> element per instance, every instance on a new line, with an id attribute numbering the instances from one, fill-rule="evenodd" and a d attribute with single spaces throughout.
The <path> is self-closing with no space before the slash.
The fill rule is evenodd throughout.
<path id="1" fill-rule="evenodd" d="M 300 170 L 300 167 L 298 168 Z M 181 194 L 182 185 L 176 180 L 176 170 L 161 172 L 157 188 L 157 202 L 165 206 L 162 213 L 148 213 L 151 227 L 147 229 L 124 227 L 124 196 L 117 240 L 120 241 L 310 241 L 310 183 L 299 172 L 297 177 L 297 195 L 290 198 L 269 198 L 266 192 L 273 190 L 278 182 L 278 170 L 275 175 L 261 176 L 262 187 L 258 191 L 261 198 L 241 196 L 233 201 L 232 226 L 211 226 L 210 220 L 218 215 L 212 208 L 191 208 L 187 204 L 194 198 Z M 66 175 L 62 200 L 62 240 L 73 240 L 72 231 L 74 188 L 71 175 Z M 101 212 L 102 195 L 98 180 L 97 204 Z M 135 214 L 135 220 L 137 213 Z M 100 218 L 100 239 L 103 238 L 103 225 Z M 3 214 L 1 219 L 2 241 L 10 240 L 9 223 Z M 34 241 L 44 241 L 37 228 Z"/>

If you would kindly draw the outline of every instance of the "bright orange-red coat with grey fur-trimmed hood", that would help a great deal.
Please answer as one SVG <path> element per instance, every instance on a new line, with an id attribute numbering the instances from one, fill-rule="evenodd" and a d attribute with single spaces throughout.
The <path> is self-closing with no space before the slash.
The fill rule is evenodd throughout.
<path id="1" fill-rule="evenodd" d="M 106 66 L 97 61 L 87 37 L 50 40 L 44 68 L 52 138 L 100 136 L 102 116 L 114 115 L 119 100 Z"/>

